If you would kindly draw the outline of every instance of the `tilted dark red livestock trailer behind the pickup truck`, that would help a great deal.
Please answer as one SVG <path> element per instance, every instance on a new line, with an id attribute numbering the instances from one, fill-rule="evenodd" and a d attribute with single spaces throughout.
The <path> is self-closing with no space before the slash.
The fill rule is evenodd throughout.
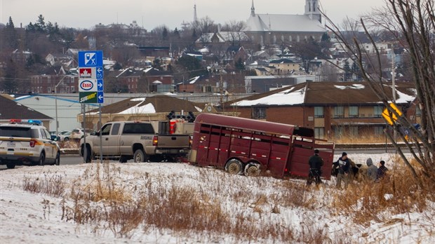
<path id="1" fill-rule="evenodd" d="M 322 177 L 330 179 L 334 143 L 314 138 L 314 130 L 283 123 L 217 114 L 199 114 L 194 123 L 190 162 L 232 174 L 307 177 L 308 159 L 319 149 Z"/>

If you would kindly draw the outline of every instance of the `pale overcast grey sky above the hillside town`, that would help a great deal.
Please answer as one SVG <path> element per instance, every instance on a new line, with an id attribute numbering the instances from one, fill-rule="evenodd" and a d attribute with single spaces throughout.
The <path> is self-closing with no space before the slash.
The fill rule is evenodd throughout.
<path id="1" fill-rule="evenodd" d="M 333 22 L 357 18 L 372 8 L 384 6 L 384 0 L 320 0 L 321 8 Z M 133 20 L 149 31 L 161 25 L 180 29 L 192 22 L 194 4 L 198 18 L 206 16 L 222 25 L 230 20 L 247 20 L 252 0 L 0 0 L 0 22 L 12 17 L 15 27 L 36 22 L 43 15 L 46 22 L 60 27 L 90 29 L 102 23 L 130 24 Z M 255 13 L 303 14 L 304 0 L 254 0 Z"/>

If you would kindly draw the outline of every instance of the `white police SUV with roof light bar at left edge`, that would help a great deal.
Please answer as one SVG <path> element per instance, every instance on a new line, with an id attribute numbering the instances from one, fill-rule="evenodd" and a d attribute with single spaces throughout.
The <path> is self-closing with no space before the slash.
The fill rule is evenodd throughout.
<path id="1" fill-rule="evenodd" d="M 60 148 L 41 121 L 11 119 L 0 125 L 0 164 L 59 165 Z"/>

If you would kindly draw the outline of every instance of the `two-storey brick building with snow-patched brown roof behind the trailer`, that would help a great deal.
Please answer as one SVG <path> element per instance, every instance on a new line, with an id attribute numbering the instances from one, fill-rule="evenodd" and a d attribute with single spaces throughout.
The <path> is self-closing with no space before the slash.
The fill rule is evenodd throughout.
<path id="1" fill-rule="evenodd" d="M 391 83 L 384 87 L 391 94 Z M 413 83 L 396 83 L 396 104 L 408 118 L 415 99 Z M 224 104 L 241 117 L 314 128 L 316 137 L 382 135 L 384 104 L 365 82 L 307 82 Z M 414 116 L 414 117 L 411 117 Z"/>

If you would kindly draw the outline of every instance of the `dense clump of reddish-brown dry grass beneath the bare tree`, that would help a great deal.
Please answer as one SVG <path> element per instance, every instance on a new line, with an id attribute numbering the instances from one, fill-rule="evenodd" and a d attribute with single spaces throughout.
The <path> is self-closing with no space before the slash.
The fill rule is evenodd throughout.
<path id="1" fill-rule="evenodd" d="M 433 182 L 427 179 L 420 184 L 407 168 L 397 165 L 401 164 L 396 163 L 396 168 L 390 169 L 380 182 L 349 184 L 346 191 L 336 194 L 334 209 L 366 225 L 372 220 L 388 222 L 395 214 L 422 212 L 427 208 L 427 200 L 435 200 Z M 425 178 L 422 172 L 417 173 L 420 179 Z"/>

